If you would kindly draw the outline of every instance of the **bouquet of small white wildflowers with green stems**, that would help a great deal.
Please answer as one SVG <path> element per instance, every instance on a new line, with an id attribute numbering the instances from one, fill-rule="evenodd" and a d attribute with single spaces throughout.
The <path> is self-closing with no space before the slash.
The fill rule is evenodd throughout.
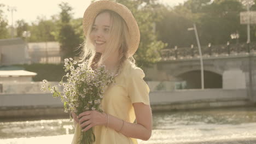
<path id="1" fill-rule="evenodd" d="M 86 110 L 103 112 L 101 107 L 103 93 L 108 85 L 114 81 L 114 75 L 110 74 L 104 65 L 92 70 L 88 66 L 88 61 L 78 64 L 76 69 L 74 68 L 75 64 L 77 62 L 73 61 L 72 58 L 65 59 L 65 71 L 70 70 L 71 73 L 63 76 L 67 77 L 67 83 L 63 83 L 63 77 L 59 82 L 59 86 L 64 86 L 63 94 L 56 85 L 51 88 L 47 80 L 43 80 L 40 90 L 45 92 L 46 87 L 48 87 L 49 91 L 53 93 L 53 97 L 60 97 L 65 112 L 74 111 L 77 115 Z M 94 141 L 95 135 L 92 129 L 81 133 L 79 143 L 91 144 Z"/>

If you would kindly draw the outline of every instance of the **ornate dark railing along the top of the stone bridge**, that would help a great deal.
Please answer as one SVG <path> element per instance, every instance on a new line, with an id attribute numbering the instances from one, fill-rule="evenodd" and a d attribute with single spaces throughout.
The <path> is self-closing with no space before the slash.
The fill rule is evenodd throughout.
<path id="1" fill-rule="evenodd" d="M 240 43 L 226 45 L 211 45 L 201 46 L 203 56 L 230 56 L 239 55 L 249 52 L 256 52 L 256 43 Z M 190 47 L 177 47 L 172 49 L 162 49 L 161 57 L 163 60 L 174 60 L 193 58 L 199 56 L 199 50 L 197 46 L 191 45 Z"/>

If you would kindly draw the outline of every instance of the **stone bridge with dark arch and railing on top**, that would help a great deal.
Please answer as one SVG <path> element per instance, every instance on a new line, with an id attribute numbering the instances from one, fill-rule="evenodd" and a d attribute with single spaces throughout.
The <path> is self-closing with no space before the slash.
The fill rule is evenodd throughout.
<path id="1" fill-rule="evenodd" d="M 256 97 L 255 48 L 254 43 L 202 47 L 205 88 L 247 89 L 248 97 Z M 146 69 L 147 80 L 185 82 L 181 89 L 201 88 L 197 48 L 165 49 L 161 56 L 161 61 Z"/>

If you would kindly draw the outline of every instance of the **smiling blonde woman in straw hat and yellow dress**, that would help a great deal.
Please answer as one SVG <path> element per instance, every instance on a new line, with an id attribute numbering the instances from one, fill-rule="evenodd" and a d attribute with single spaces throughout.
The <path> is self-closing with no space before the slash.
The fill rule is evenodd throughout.
<path id="1" fill-rule="evenodd" d="M 83 27 L 87 39 L 82 61 L 89 58 L 92 68 L 104 64 L 116 75 L 115 83 L 108 86 L 101 101 L 103 113 L 94 110 L 76 116 L 72 112 L 72 143 L 77 143 L 81 131 L 90 128 L 96 144 L 148 140 L 152 133 L 149 87 L 143 80 L 143 70 L 136 67 L 132 57 L 140 35 L 131 11 L 113 1 L 97 1 L 86 9 Z"/>

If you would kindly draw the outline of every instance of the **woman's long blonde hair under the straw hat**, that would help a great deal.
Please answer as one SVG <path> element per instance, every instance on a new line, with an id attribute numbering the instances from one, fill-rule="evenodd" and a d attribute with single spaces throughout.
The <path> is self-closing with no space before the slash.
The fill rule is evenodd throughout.
<path id="1" fill-rule="evenodd" d="M 110 15 L 110 22 L 112 23 L 112 25 L 110 26 L 110 38 L 108 43 L 106 43 L 104 55 L 102 56 L 102 53 L 95 51 L 94 45 L 89 38 L 92 25 L 94 25 L 94 23 L 92 23 L 92 25 L 89 26 L 89 31 L 86 35 L 82 55 L 80 55 L 80 59 L 82 60 L 80 60 L 79 62 L 84 62 L 86 59 L 89 59 L 89 65 L 92 69 L 94 69 L 102 62 L 106 61 L 106 59 L 111 56 L 111 53 L 118 50 L 118 61 L 120 64 L 118 65 L 118 72 L 120 72 L 121 67 L 123 67 L 123 62 L 126 59 L 128 59 L 131 63 L 135 64 L 135 59 L 132 56 L 128 58 L 128 49 L 130 46 L 129 29 L 124 19 L 114 11 L 103 10 L 98 13 L 97 16 L 102 13 L 108 13 Z"/>

